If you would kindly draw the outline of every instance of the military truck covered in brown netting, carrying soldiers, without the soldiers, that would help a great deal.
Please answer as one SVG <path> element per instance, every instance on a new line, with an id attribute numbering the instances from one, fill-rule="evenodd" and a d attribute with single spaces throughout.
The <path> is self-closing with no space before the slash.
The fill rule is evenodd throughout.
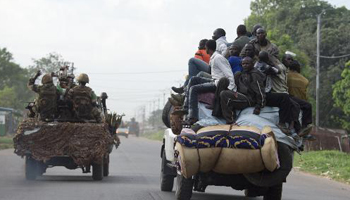
<path id="1" fill-rule="evenodd" d="M 109 175 L 109 154 L 113 145 L 120 144 L 115 133 L 122 116 L 107 112 L 106 99 L 106 93 L 97 97 L 101 122 L 69 117 L 72 112 L 64 101 L 58 103 L 58 117 L 44 121 L 35 113 L 35 102 L 29 103 L 26 108 L 30 112 L 13 139 L 15 153 L 25 158 L 27 180 L 35 180 L 55 166 L 92 172 L 93 180 Z"/>

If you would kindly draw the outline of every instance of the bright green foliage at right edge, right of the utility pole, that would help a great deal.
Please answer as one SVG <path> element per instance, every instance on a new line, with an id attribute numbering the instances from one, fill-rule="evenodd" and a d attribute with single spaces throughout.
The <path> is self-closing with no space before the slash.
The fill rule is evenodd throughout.
<path id="1" fill-rule="evenodd" d="M 337 118 L 342 126 L 350 130 L 350 61 L 341 73 L 341 80 L 333 85 L 333 99 L 335 106 L 340 108 L 346 118 Z"/>

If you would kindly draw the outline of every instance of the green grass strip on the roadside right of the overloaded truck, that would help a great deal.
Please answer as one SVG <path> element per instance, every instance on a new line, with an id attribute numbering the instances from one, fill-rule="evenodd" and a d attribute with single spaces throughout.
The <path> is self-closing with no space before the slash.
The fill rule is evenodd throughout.
<path id="1" fill-rule="evenodd" d="M 310 151 L 295 154 L 294 167 L 350 184 L 350 154 L 339 151 Z"/>

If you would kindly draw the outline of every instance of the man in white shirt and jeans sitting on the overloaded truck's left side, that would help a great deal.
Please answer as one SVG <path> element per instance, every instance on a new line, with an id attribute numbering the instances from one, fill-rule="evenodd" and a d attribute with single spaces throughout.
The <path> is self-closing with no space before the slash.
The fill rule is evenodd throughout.
<path id="1" fill-rule="evenodd" d="M 206 92 L 215 92 L 220 78 L 228 78 L 230 80 L 228 88 L 235 93 L 237 91 L 230 63 L 216 51 L 217 44 L 215 40 L 209 40 L 205 47 L 207 53 L 210 55 L 209 65 L 211 67 L 212 78 L 192 77 L 186 91 L 183 109 L 173 112 L 173 114 L 188 113 L 187 119 L 189 124 L 193 124 L 198 120 L 198 95 Z"/>

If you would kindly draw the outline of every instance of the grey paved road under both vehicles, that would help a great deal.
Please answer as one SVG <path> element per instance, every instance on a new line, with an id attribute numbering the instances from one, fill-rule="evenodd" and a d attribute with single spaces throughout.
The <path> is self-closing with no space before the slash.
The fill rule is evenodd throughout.
<path id="1" fill-rule="evenodd" d="M 37 181 L 24 178 L 24 160 L 13 150 L 0 151 L 1 200 L 171 200 L 174 192 L 159 189 L 161 143 L 144 138 L 122 138 L 111 155 L 110 177 L 92 181 L 81 170 L 56 167 Z M 206 193 L 194 193 L 194 200 L 245 199 L 242 191 L 226 187 L 208 187 Z M 260 200 L 262 198 L 254 198 Z M 349 200 L 350 186 L 311 175 L 293 172 L 284 185 L 286 200 Z"/>

